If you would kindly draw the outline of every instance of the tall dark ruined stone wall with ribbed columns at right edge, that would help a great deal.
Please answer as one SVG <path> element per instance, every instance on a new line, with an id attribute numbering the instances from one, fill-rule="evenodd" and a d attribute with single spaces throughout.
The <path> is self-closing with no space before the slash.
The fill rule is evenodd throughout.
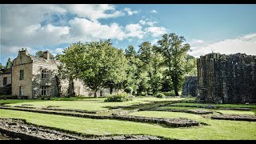
<path id="1" fill-rule="evenodd" d="M 198 102 L 256 103 L 256 56 L 211 53 L 197 64 Z"/>

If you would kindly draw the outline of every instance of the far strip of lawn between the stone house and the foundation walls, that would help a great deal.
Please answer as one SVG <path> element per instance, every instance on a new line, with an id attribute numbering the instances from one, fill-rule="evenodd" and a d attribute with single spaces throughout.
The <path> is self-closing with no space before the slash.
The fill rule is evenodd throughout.
<path id="1" fill-rule="evenodd" d="M 21 106 L 23 104 L 33 105 L 31 107 L 60 106 L 60 109 L 78 109 L 78 110 L 108 110 L 109 106 L 131 106 L 140 103 L 149 103 L 154 101 L 178 101 L 182 98 L 134 98 L 129 102 L 104 102 L 105 98 L 81 98 L 79 101 L 54 101 L 44 100 L 39 102 L 12 103 L 7 106 Z M 4 100 L 1 100 L 2 102 Z M 17 101 L 17 100 L 16 100 Z M 15 101 L 15 102 L 16 102 Z"/>

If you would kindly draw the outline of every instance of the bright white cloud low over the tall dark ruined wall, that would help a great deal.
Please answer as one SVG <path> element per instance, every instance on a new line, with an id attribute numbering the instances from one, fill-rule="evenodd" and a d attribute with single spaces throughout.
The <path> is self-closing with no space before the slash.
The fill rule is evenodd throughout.
<path id="1" fill-rule="evenodd" d="M 236 54 L 245 53 L 256 55 L 256 33 L 246 34 L 242 37 L 234 39 L 225 39 L 219 42 L 202 42 L 201 46 L 193 46 L 191 44 L 191 52 L 189 54 L 194 57 L 209 54 L 211 52 L 220 54 Z"/>

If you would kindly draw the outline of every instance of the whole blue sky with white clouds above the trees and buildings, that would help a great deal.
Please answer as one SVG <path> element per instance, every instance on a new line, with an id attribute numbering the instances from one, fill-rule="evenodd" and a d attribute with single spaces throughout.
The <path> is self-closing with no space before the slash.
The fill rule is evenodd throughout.
<path id="1" fill-rule="evenodd" d="M 75 42 L 111 39 L 125 50 L 157 44 L 162 34 L 186 38 L 190 55 L 211 52 L 256 55 L 255 4 L 29 4 L 0 5 L 0 63 L 50 50 L 62 54 Z"/>

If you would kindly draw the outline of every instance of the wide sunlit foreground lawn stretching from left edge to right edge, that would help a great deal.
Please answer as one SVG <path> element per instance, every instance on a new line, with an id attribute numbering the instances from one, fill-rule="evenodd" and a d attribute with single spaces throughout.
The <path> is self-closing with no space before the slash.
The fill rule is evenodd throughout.
<path id="1" fill-rule="evenodd" d="M 85 134 L 149 134 L 171 139 L 256 139 L 256 122 L 224 121 L 202 118 L 197 114 L 141 111 L 132 115 L 158 118 L 190 118 L 211 126 L 167 128 L 158 124 L 126 122 L 107 119 L 90 119 L 37 114 L 16 110 L 0 110 L 1 118 L 24 118 L 27 122 L 52 126 Z"/>

